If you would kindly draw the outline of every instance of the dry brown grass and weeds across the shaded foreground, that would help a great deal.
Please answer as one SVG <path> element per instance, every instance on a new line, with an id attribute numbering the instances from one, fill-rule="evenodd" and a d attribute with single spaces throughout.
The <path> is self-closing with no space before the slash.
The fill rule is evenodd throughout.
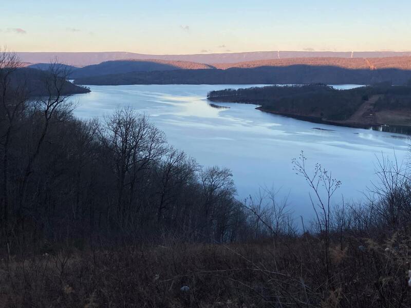
<path id="1" fill-rule="evenodd" d="M 364 249 L 359 249 L 359 245 Z M 231 244 L 64 250 L 1 264 L 2 307 L 406 307 L 409 238 L 311 236 Z M 385 248 L 389 248 L 388 250 Z M 64 263 L 65 262 L 65 263 Z M 62 266 L 62 264 L 64 265 Z M 190 290 L 183 292 L 182 286 Z"/>

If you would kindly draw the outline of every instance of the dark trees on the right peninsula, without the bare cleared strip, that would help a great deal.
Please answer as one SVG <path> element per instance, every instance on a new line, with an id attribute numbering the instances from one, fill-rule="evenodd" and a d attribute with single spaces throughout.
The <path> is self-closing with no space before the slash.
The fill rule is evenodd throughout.
<path id="1" fill-rule="evenodd" d="M 211 91 L 207 98 L 214 102 L 258 104 L 264 111 L 344 121 L 372 95 L 380 95 L 372 106 L 374 111 L 406 110 L 411 102 L 411 87 L 393 86 L 391 82 L 347 90 L 337 90 L 324 84 L 265 86 Z"/>

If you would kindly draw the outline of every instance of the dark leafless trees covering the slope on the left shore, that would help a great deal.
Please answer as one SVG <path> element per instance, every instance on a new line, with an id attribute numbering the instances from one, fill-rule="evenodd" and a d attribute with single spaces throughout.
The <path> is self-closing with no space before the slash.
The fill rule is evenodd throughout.
<path id="1" fill-rule="evenodd" d="M 104 123 L 73 118 L 72 90 L 89 90 L 66 82 L 59 64 L 20 69 L 10 57 L 0 59 L 0 220 L 13 251 L 44 249 L 48 239 L 154 240 L 166 229 L 197 240 L 243 236 L 229 170 L 200 168 L 130 108 Z"/>

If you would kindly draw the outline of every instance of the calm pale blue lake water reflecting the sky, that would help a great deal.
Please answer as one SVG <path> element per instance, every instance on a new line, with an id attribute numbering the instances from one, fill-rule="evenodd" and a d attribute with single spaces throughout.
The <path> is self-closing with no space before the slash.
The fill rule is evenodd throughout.
<path id="1" fill-rule="evenodd" d="M 261 186 L 279 189 L 297 215 L 312 214 L 308 186 L 292 171 L 292 158 L 304 150 L 307 165 L 321 163 L 342 182 L 335 202 L 364 199 L 375 181 L 376 156 L 405 160 L 408 139 L 401 134 L 313 124 L 259 110 L 256 105 L 206 100 L 207 92 L 238 85 L 90 86 L 92 92 L 73 97 L 79 118 L 104 117 L 118 106 L 132 106 L 151 115 L 169 143 L 203 166 L 229 167 L 238 198 L 255 195 Z M 335 86 L 351 88 L 354 85 Z M 405 161 L 404 161 L 405 162 Z"/>

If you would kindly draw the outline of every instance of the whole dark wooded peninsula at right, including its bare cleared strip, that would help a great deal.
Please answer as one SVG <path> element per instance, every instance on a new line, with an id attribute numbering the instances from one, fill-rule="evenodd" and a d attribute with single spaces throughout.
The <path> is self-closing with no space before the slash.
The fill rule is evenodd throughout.
<path id="1" fill-rule="evenodd" d="M 349 90 L 336 90 L 324 84 L 267 86 L 211 91 L 208 99 L 257 104 L 263 111 L 311 120 L 359 125 L 395 125 L 401 121 L 401 125 L 411 125 L 411 86 L 408 85 L 381 83 Z M 359 117 L 353 117 L 359 110 Z M 387 112 L 389 118 L 385 117 Z"/>

